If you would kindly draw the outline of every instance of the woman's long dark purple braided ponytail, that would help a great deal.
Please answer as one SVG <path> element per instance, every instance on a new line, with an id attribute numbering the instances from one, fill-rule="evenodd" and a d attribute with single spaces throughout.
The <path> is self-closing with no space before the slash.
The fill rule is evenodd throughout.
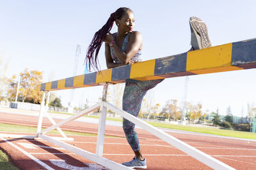
<path id="1" fill-rule="evenodd" d="M 114 13 L 111 13 L 110 17 L 108 18 L 108 21 L 105 25 L 99 31 L 95 32 L 93 39 L 90 43 L 90 45 L 87 48 L 86 52 L 86 65 L 89 63 L 89 71 L 91 70 L 91 67 L 93 69 L 98 69 L 98 54 L 100 50 L 100 46 L 102 45 L 103 39 L 105 38 L 106 34 L 108 34 L 109 31 L 111 31 L 113 24 L 115 20 L 121 19 L 125 12 L 131 11 L 130 8 L 118 8 Z"/>

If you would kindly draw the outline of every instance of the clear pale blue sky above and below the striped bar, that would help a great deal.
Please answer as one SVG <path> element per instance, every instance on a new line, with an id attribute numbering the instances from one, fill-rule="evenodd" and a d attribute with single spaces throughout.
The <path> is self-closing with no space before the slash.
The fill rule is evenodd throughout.
<path id="1" fill-rule="evenodd" d="M 143 60 L 183 53 L 190 48 L 189 17 L 207 24 L 212 45 L 256 38 L 256 1 L 0 1 L 0 55 L 10 64 L 6 76 L 25 68 L 44 72 L 44 81 L 73 76 L 76 46 L 82 53 L 77 74 L 83 74 L 84 55 L 93 34 L 117 8 L 134 12 L 134 30 L 143 35 Z M 111 32 L 116 31 L 114 25 Z M 104 46 L 100 67 L 106 69 Z M 189 76 L 187 101 L 201 103 L 203 110 L 234 115 L 247 114 L 247 104 L 255 103 L 255 69 Z M 151 90 L 154 102 L 184 99 L 186 77 L 168 78 Z M 74 103 L 96 102 L 102 87 L 78 89 Z M 70 90 L 56 92 L 64 105 Z"/>

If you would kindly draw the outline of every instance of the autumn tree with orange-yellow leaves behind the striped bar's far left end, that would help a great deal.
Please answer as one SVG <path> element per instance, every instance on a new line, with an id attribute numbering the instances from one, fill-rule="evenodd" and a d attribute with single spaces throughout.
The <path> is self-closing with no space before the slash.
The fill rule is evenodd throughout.
<path id="1" fill-rule="evenodd" d="M 36 85 L 42 83 L 42 72 L 40 71 L 28 71 L 25 69 L 20 73 L 20 87 L 18 101 L 28 103 L 40 103 L 42 100 L 42 92 L 36 91 Z M 10 79 L 10 87 L 8 88 L 8 99 L 10 101 L 15 100 L 17 92 L 17 76 L 13 75 Z"/>

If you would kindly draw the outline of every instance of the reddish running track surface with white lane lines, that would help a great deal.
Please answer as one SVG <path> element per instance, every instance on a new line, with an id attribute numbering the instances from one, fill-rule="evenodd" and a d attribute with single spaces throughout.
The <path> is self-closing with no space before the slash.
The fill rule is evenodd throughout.
<path id="1" fill-rule="evenodd" d="M 37 120 L 37 117 L 0 113 L 0 122 L 9 124 L 36 126 Z M 55 121 L 60 122 L 60 120 Z M 43 126 L 48 127 L 50 125 L 51 123 L 45 118 Z M 61 126 L 61 129 L 97 133 L 97 124 L 70 122 L 67 125 Z M 211 169 L 201 162 L 198 162 L 198 160 L 186 155 L 186 153 L 180 152 L 180 150 L 177 150 L 177 148 L 165 143 L 161 139 L 152 136 L 148 132 L 142 129 L 137 129 L 137 132 L 140 138 L 141 150 L 147 159 L 147 169 Z M 8 134 L 17 133 L 8 132 Z M 122 127 L 107 125 L 106 134 L 124 137 Z M 169 132 L 169 134 L 191 146 L 194 146 L 195 148 L 198 148 L 202 152 L 212 155 L 212 157 L 234 167 L 235 169 L 256 169 L 255 141 L 218 138 L 214 136 L 198 135 L 195 133 L 184 134 Z M 95 153 L 96 137 L 68 137 L 75 138 L 75 141 L 68 141 L 67 143 L 87 150 L 88 152 Z M 30 144 L 29 146 L 33 144 L 33 147 L 29 148 L 26 146 L 28 144 Z M 47 147 L 45 148 L 45 146 Z M 84 164 L 93 163 L 90 162 L 90 160 L 86 160 L 83 157 L 68 152 L 67 150 L 61 150 L 58 146 L 54 146 L 42 139 L 28 140 L 0 138 L 0 147 L 3 148 L 10 157 L 12 157 L 13 161 L 20 167 L 20 169 L 42 169 L 44 167 L 36 163 L 35 160 L 31 159 L 31 157 L 29 158 L 28 155 L 38 159 L 40 162 L 44 162 L 44 164 L 52 167 L 53 169 L 63 169 L 60 167 L 63 165 L 66 165 L 66 169 L 79 169 L 78 167 L 81 167 L 81 169 L 97 169 L 95 164 Z M 22 153 L 17 148 L 20 148 L 24 152 Z M 115 162 L 122 163 L 131 160 L 133 153 L 125 138 L 105 138 L 104 157 Z M 64 160 L 65 162 L 63 162 Z M 91 167 L 89 168 L 88 166 Z M 101 168 L 98 167 L 98 169 Z"/>

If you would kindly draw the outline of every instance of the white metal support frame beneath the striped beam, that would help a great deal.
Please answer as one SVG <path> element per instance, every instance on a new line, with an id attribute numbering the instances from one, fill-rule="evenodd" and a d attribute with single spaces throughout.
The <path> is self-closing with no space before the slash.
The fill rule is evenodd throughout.
<path id="1" fill-rule="evenodd" d="M 44 99 L 44 97 L 43 97 L 43 99 Z M 42 102 L 41 104 L 43 104 L 43 107 L 44 107 L 44 102 Z M 99 118 L 99 129 L 98 129 L 97 147 L 96 147 L 95 154 L 87 152 L 86 150 L 77 148 L 76 146 L 68 145 L 67 143 L 65 143 L 63 141 L 60 141 L 60 139 L 54 139 L 50 136 L 45 135 L 45 133 L 51 131 L 52 129 L 59 128 L 61 125 L 67 124 L 68 122 L 76 120 L 79 117 L 83 117 L 83 115 L 86 115 L 95 110 L 98 110 L 99 108 L 101 110 L 101 114 L 100 114 L 100 118 Z M 113 106 L 112 104 L 110 104 L 106 101 L 101 101 L 100 103 L 95 104 L 91 108 L 88 108 L 88 109 L 82 111 L 81 113 L 78 113 L 77 115 L 67 118 L 67 120 L 63 120 L 63 121 L 59 122 L 58 124 L 54 124 L 51 127 L 48 127 L 44 131 L 39 131 L 40 129 L 38 129 L 37 136 L 39 138 L 45 139 L 46 141 L 53 143 L 54 145 L 65 148 L 66 150 L 68 150 L 72 153 L 76 153 L 77 155 L 80 155 L 88 160 L 92 160 L 93 162 L 96 162 L 97 164 L 100 164 L 109 169 L 129 169 L 128 167 L 125 167 L 122 164 L 118 164 L 116 162 L 113 162 L 111 160 L 108 160 L 108 159 L 102 157 L 107 110 L 111 110 L 111 111 L 114 111 L 115 113 L 118 113 L 119 115 L 126 118 L 127 120 L 140 126 L 141 128 L 145 129 L 146 131 L 150 132 L 151 134 L 154 134 L 158 138 L 163 139 L 163 141 L 166 141 L 170 145 L 175 146 L 182 152 L 187 153 L 191 157 L 199 160 L 200 162 L 204 163 L 205 165 L 207 165 L 209 167 L 212 167 L 213 169 L 234 169 L 233 167 L 230 167 L 227 164 L 224 164 L 220 160 L 214 159 L 210 155 L 207 155 L 206 153 L 201 152 L 200 150 L 188 145 L 187 143 L 184 143 L 183 141 L 180 141 L 177 138 L 174 138 L 170 134 L 167 134 L 166 132 L 163 132 L 163 131 L 157 129 L 156 127 L 154 127 L 150 124 L 147 124 L 147 122 L 144 122 L 144 121 L 140 120 L 139 118 L 134 117 L 133 115 L 127 113 L 126 111 L 120 110 L 116 106 Z M 41 110 L 41 112 L 42 112 L 42 110 Z M 40 118 L 42 118 L 41 113 L 40 113 Z M 42 120 L 40 120 L 40 118 L 38 121 L 38 127 L 40 127 L 41 126 L 40 124 L 42 124 Z"/>

